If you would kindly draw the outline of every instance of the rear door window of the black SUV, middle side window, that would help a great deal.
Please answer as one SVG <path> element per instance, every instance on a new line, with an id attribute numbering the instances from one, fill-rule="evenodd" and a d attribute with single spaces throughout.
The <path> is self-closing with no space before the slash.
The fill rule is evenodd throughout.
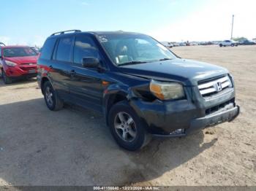
<path id="1" fill-rule="evenodd" d="M 59 40 L 56 53 L 57 61 L 69 62 L 71 60 L 72 39 L 73 37 L 64 37 Z"/>

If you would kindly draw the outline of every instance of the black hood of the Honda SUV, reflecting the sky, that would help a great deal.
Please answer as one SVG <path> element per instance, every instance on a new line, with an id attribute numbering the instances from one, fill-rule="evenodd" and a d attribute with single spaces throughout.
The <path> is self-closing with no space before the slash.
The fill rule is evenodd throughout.
<path id="1" fill-rule="evenodd" d="M 134 76 L 184 82 L 185 85 L 197 85 L 202 79 L 228 73 L 227 69 L 220 66 L 181 58 L 120 66 L 118 69 Z"/>

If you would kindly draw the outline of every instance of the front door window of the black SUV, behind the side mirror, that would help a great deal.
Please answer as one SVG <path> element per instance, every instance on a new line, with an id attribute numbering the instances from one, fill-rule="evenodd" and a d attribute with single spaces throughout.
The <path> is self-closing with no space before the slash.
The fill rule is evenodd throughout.
<path id="1" fill-rule="evenodd" d="M 77 36 L 74 46 L 74 63 L 81 63 L 85 57 L 99 59 L 99 51 L 90 37 Z"/>

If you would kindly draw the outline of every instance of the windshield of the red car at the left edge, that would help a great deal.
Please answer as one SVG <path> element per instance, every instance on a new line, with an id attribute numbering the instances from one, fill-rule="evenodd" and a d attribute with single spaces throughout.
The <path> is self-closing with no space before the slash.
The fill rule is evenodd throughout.
<path id="1" fill-rule="evenodd" d="M 34 52 L 30 47 L 11 47 L 4 48 L 4 57 L 22 57 L 22 56 L 31 56 L 37 55 L 37 52 Z"/>

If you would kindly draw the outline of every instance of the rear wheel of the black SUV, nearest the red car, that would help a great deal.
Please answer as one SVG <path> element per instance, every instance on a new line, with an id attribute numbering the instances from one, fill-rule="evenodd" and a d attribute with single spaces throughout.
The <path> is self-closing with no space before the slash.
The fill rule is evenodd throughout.
<path id="1" fill-rule="evenodd" d="M 45 104 L 51 111 L 58 111 L 63 108 L 63 101 L 59 98 L 56 91 L 53 90 L 53 86 L 49 81 L 45 82 L 43 85 L 43 94 L 45 97 Z"/>

